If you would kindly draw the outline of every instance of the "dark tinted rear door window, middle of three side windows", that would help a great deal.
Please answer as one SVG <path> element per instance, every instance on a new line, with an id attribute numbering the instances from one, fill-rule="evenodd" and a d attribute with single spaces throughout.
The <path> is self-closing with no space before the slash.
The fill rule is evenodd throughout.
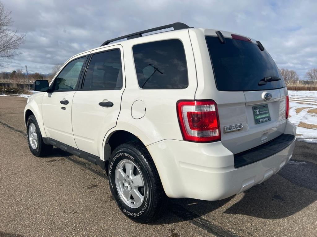
<path id="1" fill-rule="evenodd" d="M 83 89 L 120 90 L 121 88 L 120 50 L 93 54 L 87 68 Z"/>

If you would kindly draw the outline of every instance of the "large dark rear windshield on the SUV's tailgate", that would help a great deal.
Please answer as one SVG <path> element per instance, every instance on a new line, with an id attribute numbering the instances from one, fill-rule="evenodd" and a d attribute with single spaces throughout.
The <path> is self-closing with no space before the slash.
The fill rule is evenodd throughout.
<path id="1" fill-rule="evenodd" d="M 206 36 L 217 89 L 220 91 L 255 91 L 285 87 L 283 77 L 266 49 L 243 40 Z M 264 77 L 277 76 L 280 81 L 259 86 Z"/>

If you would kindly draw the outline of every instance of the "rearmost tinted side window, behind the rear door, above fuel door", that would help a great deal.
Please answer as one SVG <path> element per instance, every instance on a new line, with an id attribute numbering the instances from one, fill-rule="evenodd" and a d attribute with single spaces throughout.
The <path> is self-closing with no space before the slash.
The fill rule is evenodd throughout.
<path id="1" fill-rule="evenodd" d="M 162 40 L 134 45 L 132 50 L 140 88 L 188 87 L 186 57 L 180 40 Z"/>

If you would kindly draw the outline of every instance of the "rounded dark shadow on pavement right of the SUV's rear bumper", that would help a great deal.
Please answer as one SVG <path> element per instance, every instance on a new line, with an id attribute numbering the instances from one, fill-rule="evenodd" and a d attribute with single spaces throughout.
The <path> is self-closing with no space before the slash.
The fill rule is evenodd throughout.
<path id="1" fill-rule="evenodd" d="M 225 213 L 280 219 L 301 211 L 316 200 L 317 165 L 291 160 L 278 175 L 246 191 Z"/>

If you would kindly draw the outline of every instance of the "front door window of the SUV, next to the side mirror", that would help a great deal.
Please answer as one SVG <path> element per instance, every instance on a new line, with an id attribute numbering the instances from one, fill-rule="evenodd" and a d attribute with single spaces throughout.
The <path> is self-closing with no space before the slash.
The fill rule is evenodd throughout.
<path id="1" fill-rule="evenodd" d="M 79 75 L 86 57 L 77 58 L 66 65 L 55 78 L 53 90 L 73 90 L 79 79 Z"/>

